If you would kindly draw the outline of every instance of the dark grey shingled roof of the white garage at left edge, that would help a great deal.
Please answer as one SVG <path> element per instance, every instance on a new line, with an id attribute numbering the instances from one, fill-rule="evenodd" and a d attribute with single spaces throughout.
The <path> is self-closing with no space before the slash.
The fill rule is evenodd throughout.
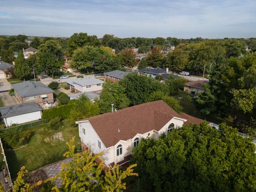
<path id="1" fill-rule="evenodd" d="M 36 102 L 27 102 L 12 106 L 1 107 L 0 113 L 2 115 L 2 118 L 7 118 L 42 110 L 42 107 L 40 107 Z"/>

